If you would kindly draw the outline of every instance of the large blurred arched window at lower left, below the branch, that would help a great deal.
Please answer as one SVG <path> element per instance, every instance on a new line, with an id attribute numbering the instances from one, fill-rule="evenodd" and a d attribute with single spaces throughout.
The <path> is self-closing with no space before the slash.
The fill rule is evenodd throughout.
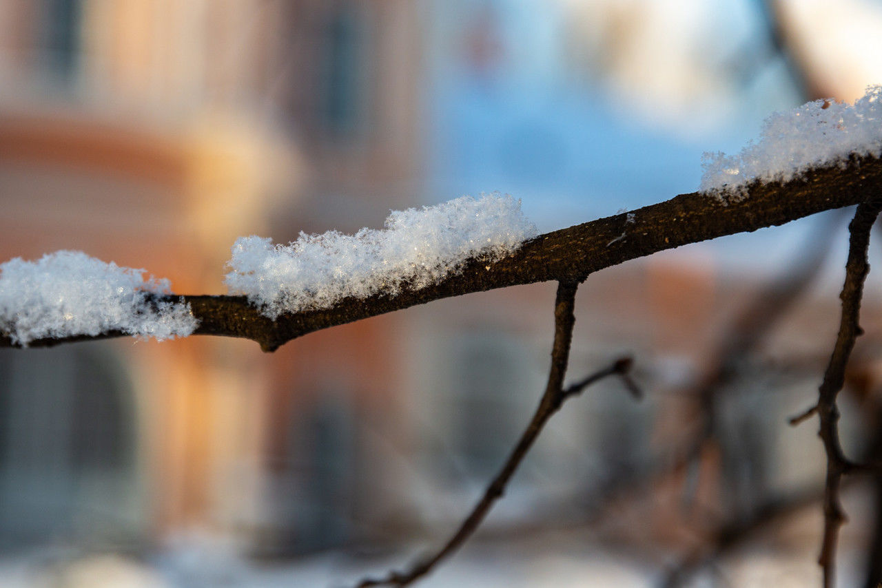
<path id="1" fill-rule="evenodd" d="M 0 548 L 131 519 L 131 392 L 102 350 L 0 353 Z"/>

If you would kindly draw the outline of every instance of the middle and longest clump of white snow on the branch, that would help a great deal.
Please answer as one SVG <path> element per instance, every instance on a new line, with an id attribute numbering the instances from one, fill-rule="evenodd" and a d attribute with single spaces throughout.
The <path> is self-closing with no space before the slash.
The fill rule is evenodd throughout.
<path id="1" fill-rule="evenodd" d="M 265 316 L 326 309 L 346 297 L 435 284 L 480 255 L 499 259 L 537 234 L 520 201 L 498 194 L 392 211 L 385 229 L 356 234 L 301 233 L 288 245 L 258 236 L 233 245 L 231 293 L 245 294 Z"/>

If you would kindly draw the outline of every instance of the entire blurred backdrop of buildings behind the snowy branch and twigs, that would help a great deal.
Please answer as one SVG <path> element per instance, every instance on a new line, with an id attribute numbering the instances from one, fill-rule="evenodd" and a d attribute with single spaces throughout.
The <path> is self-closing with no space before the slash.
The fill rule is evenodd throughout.
<path id="1" fill-rule="evenodd" d="M 870 0 L 0 0 L 0 259 L 81 249 L 222 294 L 235 238 L 522 198 L 541 231 L 696 190 L 774 110 L 882 83 Z M 427 586 L 817 583 L 815 400 L 848 214 L 610 268 L 551 421 Z M 878 261 L 878 242 L 873 257 Z M 843 392 L 882 452 L 878 274 Z M 553 285 L 253 343 L 0 353 L 0 584 L 344 585 L 459 525 L 544 385 Z M 882 573 L 845 491 L 843 585 Z"/>

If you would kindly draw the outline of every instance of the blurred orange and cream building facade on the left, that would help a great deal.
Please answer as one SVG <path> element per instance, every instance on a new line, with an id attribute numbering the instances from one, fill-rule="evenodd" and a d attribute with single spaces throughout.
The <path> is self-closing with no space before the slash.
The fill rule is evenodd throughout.
<path id="1" fill-rule="evenodd" d="M 376 224 L 420 174 L 414 20 L 405 2 L 0 2 L 0 257 L 81 249 L 222 293 L 239 235 Z M 232 340 L 4 353 L 0 543 L 347 539 L 355 413 L 392 370 L 378 331 L 272 359 Z M 325 381 L 323 349 L 363 361 Z"/>

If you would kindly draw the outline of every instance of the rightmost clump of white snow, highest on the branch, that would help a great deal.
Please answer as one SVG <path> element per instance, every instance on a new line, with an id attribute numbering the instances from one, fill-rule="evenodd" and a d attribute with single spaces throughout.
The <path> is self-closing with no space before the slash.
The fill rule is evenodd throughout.
<path id="1" fill-rule="evenodd" d="M 754 180 L 788 182 L 811 167 L 844 166 L 852 153 L 882 155 L 882 86 L 867 88 L 854 106 L 815 100 L 777 112 L 738 155 L 705 153 L 699 192 L 738 199 Z"/>

